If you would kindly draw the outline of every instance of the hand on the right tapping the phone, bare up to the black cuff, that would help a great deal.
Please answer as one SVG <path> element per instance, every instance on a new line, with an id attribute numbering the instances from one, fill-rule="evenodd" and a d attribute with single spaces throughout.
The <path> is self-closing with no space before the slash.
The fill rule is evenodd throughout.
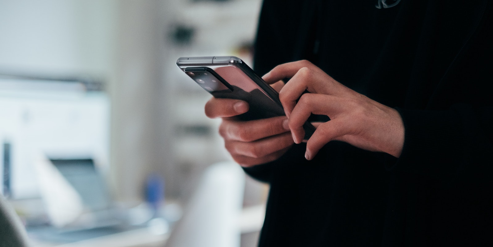
<path id="1" fill-rule="evenodd" d="M 400 156 L 404 125 L 395 109 L 342 85 L 308 61 L 279 65 L 263 79 L 274 82 L 286 77 L 291 79 L 280 91 L 279 98 L 289 118 L 294 142 L 303 140 L 302 126 L 311 113 L 327 115 L 331 119 L 320 124 L 308 140 L 305 153 L 308 160 L 332 140 Z M 310 93 L 303 94 L 305 90 Z"/>

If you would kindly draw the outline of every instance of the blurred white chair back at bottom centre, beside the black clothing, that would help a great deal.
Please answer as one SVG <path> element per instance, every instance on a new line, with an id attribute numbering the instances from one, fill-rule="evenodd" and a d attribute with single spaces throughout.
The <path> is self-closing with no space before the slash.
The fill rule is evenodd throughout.
<path id="1" fill-rule="evenodd" d="M 166 247 L 239 247 L 245 173 L 234 162 L 211 165 Z"/>

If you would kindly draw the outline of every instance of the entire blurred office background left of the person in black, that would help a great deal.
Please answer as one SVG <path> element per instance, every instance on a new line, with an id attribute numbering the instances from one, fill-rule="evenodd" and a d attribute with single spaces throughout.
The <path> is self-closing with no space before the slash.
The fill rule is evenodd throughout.
<path id="1" fill-rule="evenodd" d="M 176 59 L 253 66 L 260 5 L 0 0 L 0 191 L 33 246 L 256 245 L 268 187 Z"/>

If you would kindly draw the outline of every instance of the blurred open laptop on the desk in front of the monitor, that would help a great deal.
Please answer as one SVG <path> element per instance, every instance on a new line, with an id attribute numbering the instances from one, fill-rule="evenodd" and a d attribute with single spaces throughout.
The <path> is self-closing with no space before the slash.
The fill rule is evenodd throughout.
<path id="1" fill-rule="evenodd" d="M 56 228 L 53 226 L 28 228 L 31 237 L 38 240 L 72 243 L 116 234 L 136 228 L 122 217 L 111 198 L 104 176 L 92 158 L 50 159 L 60 174 L 79 194 L 84 206 L 84 223 Z"/>

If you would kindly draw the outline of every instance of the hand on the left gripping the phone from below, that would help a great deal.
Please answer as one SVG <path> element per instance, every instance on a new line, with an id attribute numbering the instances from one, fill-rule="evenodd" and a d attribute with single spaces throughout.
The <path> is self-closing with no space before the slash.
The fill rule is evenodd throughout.
<path id="1" fill-rule="evenodd" d="M 211 98 L 205 107 L 210 118 L 222 118 L 219 134 L 233 159 L 243 167 L 277 160 L 294 144 L 285 116 L 240 121 L 248 111 L 245 101 Z"/>

